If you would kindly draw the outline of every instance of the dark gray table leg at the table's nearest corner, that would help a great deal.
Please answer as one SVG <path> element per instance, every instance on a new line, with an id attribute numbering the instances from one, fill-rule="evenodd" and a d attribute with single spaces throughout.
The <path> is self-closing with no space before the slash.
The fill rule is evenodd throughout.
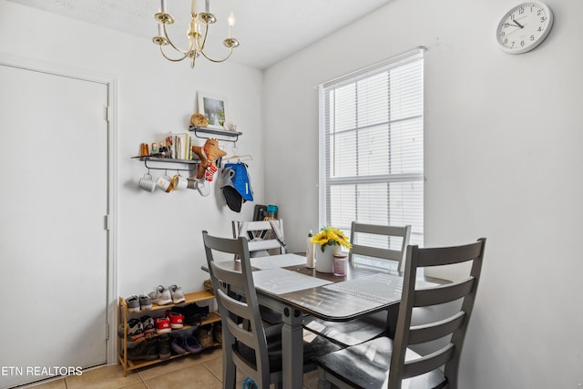
<path id="1" fill-rule="evenodd" d="M 302 389 L 303 387 L 302 319 L 302 312 L 284 308 L 281 328 L 284 389 Z"/>

